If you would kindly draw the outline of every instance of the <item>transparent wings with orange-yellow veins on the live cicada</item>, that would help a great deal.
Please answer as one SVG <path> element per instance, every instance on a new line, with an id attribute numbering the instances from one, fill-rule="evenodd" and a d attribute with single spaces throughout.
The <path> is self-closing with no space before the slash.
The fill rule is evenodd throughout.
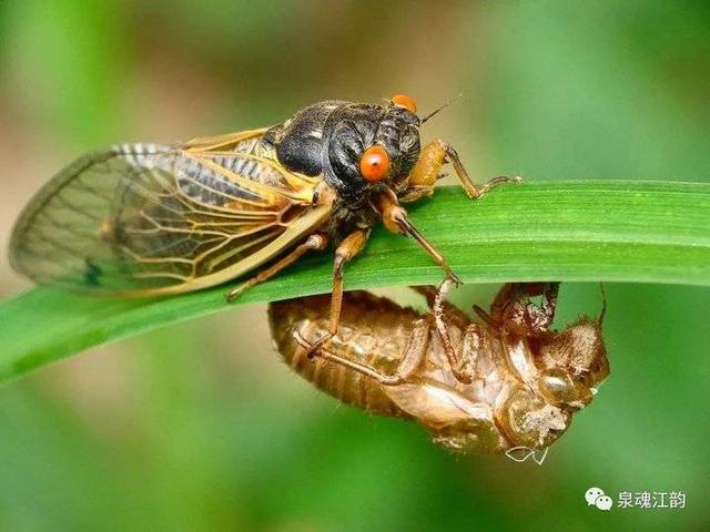
<path id="1" fill-rule="evenodd" d="M 39 283 L 165 294 L 223 283 L 293 246 L 329 207 L 258 154 L 264 130 L 79 158 L 18 221 L 10 259 Z"/>

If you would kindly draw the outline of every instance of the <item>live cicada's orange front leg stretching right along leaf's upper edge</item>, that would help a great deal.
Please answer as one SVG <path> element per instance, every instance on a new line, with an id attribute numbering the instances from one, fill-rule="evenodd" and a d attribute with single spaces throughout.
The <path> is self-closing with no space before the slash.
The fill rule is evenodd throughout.
<path id="1" fill-rule="evenodd" d="M 403 202 L 413 202 L 422 196 L 430 195 L 434 192 L 436 181 L 442 176 L 442 166 L 447 161 L 454 165 L 456 177 L 471 200 L 483 196 L 490 188 L 503 183 L 519 183 L 523 181 L 523 178 L 517 175 L 514 177 L 501 175 L 477 186 L 471 181 L 468 172 L 466 172 L 456 150 L 454 150 L 450 144 L 437 140 L 430 142 L 422 150 L 419 160 L 414 165 L 414 168 L 412 168 L 412 172 L 409 172 L 408 186 L 400 200 Z"/>

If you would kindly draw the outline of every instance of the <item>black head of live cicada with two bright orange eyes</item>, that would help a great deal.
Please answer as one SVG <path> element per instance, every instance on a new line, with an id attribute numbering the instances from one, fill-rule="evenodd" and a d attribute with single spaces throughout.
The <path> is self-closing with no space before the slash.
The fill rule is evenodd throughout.
<path id="1" fill-rule="evenodd" d="M 414 101 L 403 95 L 385 106 L 336 110 L 324 129 L 325 181 L 346 198 L 383 186 L 398 191 L 419 158 L 419 125 Z"/>

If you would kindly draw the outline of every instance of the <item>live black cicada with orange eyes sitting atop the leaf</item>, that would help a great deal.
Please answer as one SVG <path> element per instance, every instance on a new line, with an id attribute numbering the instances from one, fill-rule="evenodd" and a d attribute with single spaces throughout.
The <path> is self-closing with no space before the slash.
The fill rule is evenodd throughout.
<path id="1" fill-rule="evenodd" d="M 11 263 L 39 283 L 119 296 L 196 290 L 256 270 L 232 299 L 333 246 L 335 332 L 343 266 L 379 221 L 454 276 L 400 206 L 429 196 L 446 161 L 470 197 L 509 181 L 476 187 L 452 146 L 420 149 L 425 121 L 406 95 L 386 104 L 331 100 L 271 127 L 88 154 L 24 208 Z"/>

